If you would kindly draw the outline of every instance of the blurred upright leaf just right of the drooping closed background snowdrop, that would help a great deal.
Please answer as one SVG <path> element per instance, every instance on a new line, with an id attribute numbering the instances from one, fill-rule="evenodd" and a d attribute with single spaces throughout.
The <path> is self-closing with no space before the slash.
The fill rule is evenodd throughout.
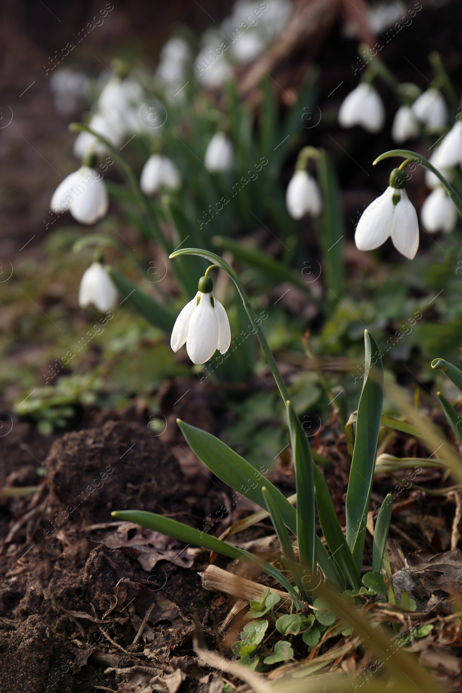
<path id="1" fill-rule="evenodd" d="M 322 252 L 322 267 L 325 271 L 328 301 L 336 303 L 344 292 L 344 213 L 341 193 L 335 169 L 326 152 L 319 149 L 317 178 L 323 200 L 323 211 L 319 220 L 314 220 L 318 243 Z"/>

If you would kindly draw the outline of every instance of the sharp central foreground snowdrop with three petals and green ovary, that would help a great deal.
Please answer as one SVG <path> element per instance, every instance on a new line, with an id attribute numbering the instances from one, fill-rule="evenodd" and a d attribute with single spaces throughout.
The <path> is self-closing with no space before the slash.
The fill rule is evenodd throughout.
<path id="1" fill-rule="evenodd" d="M 231 344 L 226 310 L 217 301 L 212 289 L 211 277 L 199 279 L 197 295 L 181 310 L 170 340 L 173 351 L 181 349 L 186 342 L 188 356 L 196 364 L 208 361 L 216 349 L 225 353 Z"/>

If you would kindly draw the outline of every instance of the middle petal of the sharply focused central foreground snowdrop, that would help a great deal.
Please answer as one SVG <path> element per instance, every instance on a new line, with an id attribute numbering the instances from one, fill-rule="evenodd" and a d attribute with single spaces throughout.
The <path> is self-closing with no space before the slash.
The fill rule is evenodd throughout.
<path id="1" fill-rule="evenodd" d="M 217 349 L 218 321 L 210 299 L 211 294 L 200 294 L 189 320 L 186 351 L 193 363 L 205 363 Z"/>

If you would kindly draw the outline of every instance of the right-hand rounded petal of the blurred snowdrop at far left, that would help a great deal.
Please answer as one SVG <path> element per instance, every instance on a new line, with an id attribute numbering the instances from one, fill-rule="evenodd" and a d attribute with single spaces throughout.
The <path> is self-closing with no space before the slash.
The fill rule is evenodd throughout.
<path id="1" fill-rule="evenodd" d="M 109 198 L 103 179 L 95 170 L 81 166 L 71 188 L 71 214 L 81 224 L 94 224 L 107 213 Z"/>

